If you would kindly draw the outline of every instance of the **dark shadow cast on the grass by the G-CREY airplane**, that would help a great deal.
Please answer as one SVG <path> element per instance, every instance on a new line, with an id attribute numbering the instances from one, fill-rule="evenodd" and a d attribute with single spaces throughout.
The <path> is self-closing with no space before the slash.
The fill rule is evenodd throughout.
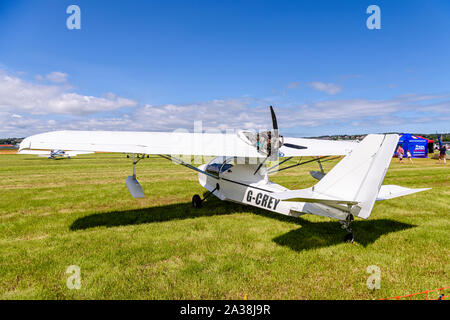
<path id="1" fill-rule="evenodd" d="M 70 226 L 70 230 L 76 231 L 95 227 L 110 228 L 228 215 L 237 212 L 250 212 L 259 216 L 299 225 L 300 228 L 273 239 L 278 245 L 289 247 L 294 251 L 338 245 L 343 243 L 343 238 L 346 234 L 336 220 L 311 222 L 301 217 L 278 215 L 255 207 L 222 202 L 217 199 L 208 200 L 201 209 L 194 209 L 191 202 L 185 202 L 136 210 L 95 213 L 76 219 Z M 352 223 L 355 241 L 363 246 L 375 242 L 382 235 L 414 227 L 416 226 L 390 219 L 355 220 Z"/>

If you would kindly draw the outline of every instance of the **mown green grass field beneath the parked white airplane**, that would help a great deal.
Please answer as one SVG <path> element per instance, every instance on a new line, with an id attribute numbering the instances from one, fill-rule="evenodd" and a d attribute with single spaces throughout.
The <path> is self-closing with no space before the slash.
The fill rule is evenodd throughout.
<path id="1" fill-rule="evenodd" d="M 379 299 L 449 286 L 450 164 L 414 161 L 393 160 L 384 183 L 433 189 L 378 202 L 349 244 L 328 218 L 212 198 L 193 209 L 197 175 L 161 158 L 137 165 L 147 197 L 135 200 L 124 155 L 0 155 L 0 298 Z M 311 169 L 273 180 L 308 187 Z M 79 290 L 66 286 L 70 265 Z M 379 290 L 366 286 L 370 265 Z"/>

